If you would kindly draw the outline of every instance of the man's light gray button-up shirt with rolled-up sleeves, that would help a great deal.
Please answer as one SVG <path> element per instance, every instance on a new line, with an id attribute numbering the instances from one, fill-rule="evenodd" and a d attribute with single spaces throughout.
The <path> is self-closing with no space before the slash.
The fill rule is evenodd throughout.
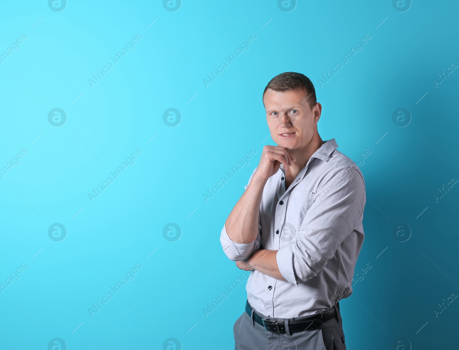
<path id="1" fill-rule="evenodd" d="M 255 241 L 235 243 L 223 226 L 220 242 L 230 260 L 245 260 L 257 249 L 278 250 L 277 264 L 287 282 L 255 270 L 246 285 L 250 305 L 263 316 L 308 316 L 352 294 L 364 241 L 365 182 L 358 166 L 336 147 L 335 139 L 326 141 L 286 191 L 280 165 L 263 189 Z"/>

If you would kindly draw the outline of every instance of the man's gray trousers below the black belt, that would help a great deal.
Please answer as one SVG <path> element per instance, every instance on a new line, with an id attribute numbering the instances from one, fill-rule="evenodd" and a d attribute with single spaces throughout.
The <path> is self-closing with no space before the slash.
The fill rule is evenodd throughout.
<path id="1" fill-rule="evenodd" d="M 271 333 L 244 313 L 233 326 L 235 350 L 346 350 L 339 305 L 335 305 L 338 320 L 332 318 L 318 329 L 285 333 Z M 261 315 L 260 315 L 261 316 Z"/>

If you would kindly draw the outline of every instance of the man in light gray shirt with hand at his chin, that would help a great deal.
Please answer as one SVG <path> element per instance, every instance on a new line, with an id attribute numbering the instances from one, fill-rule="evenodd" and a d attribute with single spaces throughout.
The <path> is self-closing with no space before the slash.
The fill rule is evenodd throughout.
<path id="1" fill-rule="evenodd" d="M 322 106 L 301 73 L 263 92 L 273 141 L 265 146 L 220 241 L 247 281 L 235 349 L 345 350 L 338 300 L 352 293 L 364 241 L 358 166 L 317 131 Z"/>

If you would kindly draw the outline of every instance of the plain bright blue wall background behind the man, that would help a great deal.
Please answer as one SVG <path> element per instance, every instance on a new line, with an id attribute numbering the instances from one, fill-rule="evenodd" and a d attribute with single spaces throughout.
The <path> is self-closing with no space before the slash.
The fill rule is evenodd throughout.
<path id="1" fill-rule="evenodd" d="M 183 1 L 178 11 L 162 1 L 69 0 L 55 12 L 40 0 L 0 10 L 0 53 L 27 35 L 0 64 L 0 166 L 27 150 L 0 179 L 0 282 L 27 265 L 0 294 L 1 349 L 47 349 L 56 337 L 69 350 L 163 349 L 168 338 L 176 350 L 234 348 L 245 282 L 207 317 L 203 309 L 241 276 L 219 235 L 263 146 L 274 144 L 262 91 L 285 71 L 313 81 L 323 140 L 335 138 L 357 164 L 371 151 L 360 166 L 367 204 L 356 274 L 372 267 L 340 302 L 347 349 L 395 350 L 402 338 L 398 350 L 457 344 L 459 299 L 434 310 L 459 293 L 459 184 L 434 195 L 459 179 L 459 70 L 433 81 L 459 64 L 457 2 L 413 1 L 400 12 L 390 0 L 298 1 L 285 12 L 275 0 Z M 135 49 L 91 87 L 135 34 Z M 206 87 L 251 34 L 250 49 Z M 344 64 L 365 34 L 371 40 Z M 337 62 L 344 67 L 320 87 Z M 56 107 L 67 114 L 61 127 L 48 121 Z M 163 122 L 167 108 L 181 114 L 175 127 Z M 397 108 L 411 114 L 405 127 L 392 121 Z M 91 203 L 88 193 L 137 148 L 135 164 Z M 206 203 L 252 148 L 250 164 Z M 67 229 L 61 242 L 48 236 L 56 222 Z M 162 233 L 171 222 L 181 229 L 175 242 Z M 411 230 L 405 242 L 392 234 L 399 223 Z M 91 317 L 137 263 L 135 279 Z"/>

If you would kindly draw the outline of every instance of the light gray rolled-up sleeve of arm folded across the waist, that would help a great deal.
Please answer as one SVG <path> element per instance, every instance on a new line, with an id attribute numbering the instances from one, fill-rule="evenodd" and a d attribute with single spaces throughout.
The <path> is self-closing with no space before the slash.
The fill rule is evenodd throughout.
<path id="1" fill-rule="evenodd" d="M 365 198 L 364 179 L 358 169 L 349 166 L 330 171 L 295 239 L 276 254 L 281 275 L 295 285 L 317 276 L 362 220 Z"/>

